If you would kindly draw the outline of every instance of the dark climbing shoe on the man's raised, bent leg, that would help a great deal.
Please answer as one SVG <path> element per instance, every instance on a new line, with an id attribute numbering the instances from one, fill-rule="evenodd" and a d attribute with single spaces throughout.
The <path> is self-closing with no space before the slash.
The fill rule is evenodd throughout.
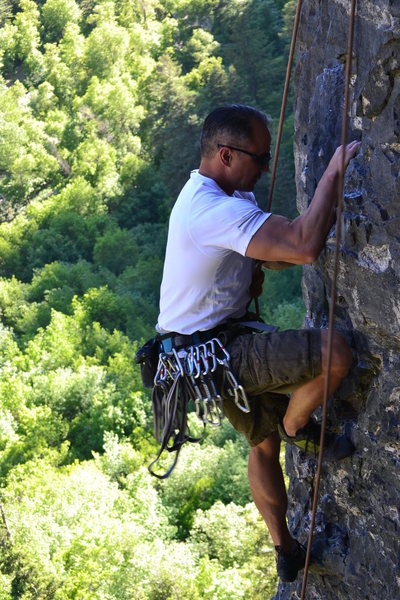
<path id="1" fill-rule="evenodd" d="M 314 419 L 310 419 L 304 427 L 299 429 L 295 436 L 286 433 L 283 423 L 278 424 L 278 432 L 283 441 L 287 444 L 297 446 L 303 452 L 313 454 L 315 457 L 319 454 L 321 425 Z M 346 435 L 337 435 L 333 431 L 325 430 L 324 458 L 326 460 L 341 460 L 350 456 L 354 452 L 354 445 Z"/>

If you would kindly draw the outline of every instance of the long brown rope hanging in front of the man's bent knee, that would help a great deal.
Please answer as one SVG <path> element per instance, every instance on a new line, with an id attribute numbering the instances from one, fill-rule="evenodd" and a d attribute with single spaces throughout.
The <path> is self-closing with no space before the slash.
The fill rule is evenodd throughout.
<path id="1" fill-rule="evenodd" d="M 311 556 L 311 543 L 315 524 L 315 515 L 317 512 L 318 495 L 319 495 L 319 484 L 321 480 L 321 469 L 322 469 L 322 457 L 324 451 L 325 442 L 325 426 L 328 406 L 328 391 L 330 384 L 330 371 L 332 364 L 332 342 L 333 342 L 333 321 L 336 306 L 336 289 L 337 289 L 337 278 L 339 271 L 339 248 L 341 238 L 341 225 L 342 225 L 342 208 L 343 208 L 343 188 L 344 188 L 344 172 L 345 172 L 345 156 L 346 156 L 346 140 L 347 140 L 347 113 L 349 107 L 349 89 L 350 89 L 350 76 L 351 76 L 351 59 L 353 54 L 353 38 L 354 38 L 354 21 L 356 11 L 356 1 L 351 0 L 350 20 L 349 20 L 349 35 L 348 35 L 348 46 L 347 46 L 347 58 L 346 58 L 346 81 L 344 86 L 344 106 L 343 106 L 343 117 L 342 117 L 342 153 L 341 153 L 341 168 L 339 171 L 339 185 L 338 185 L 338 203 L 336 213 L 336 244 L 334 253 L 334 267 L 332 276 L 332 287 L 331 287 L 331 298 L 329 307 L 329 325 L 328 325 L 328 355 L 327 355 L 327 375 L 325 379 L 324 388 L 324 400 L 323 400 L 323 412 L 322 412 L 322 424 L 321 424 L 321 439 L 320 439 L 320 451 L 318 457 L 318 469 L 315 477 L 314 487 L 314 499 L 311 513 L 310 532 L 308 535 L 306 563 L 304 566 L 303 585 L 301 589 L 301 600 L 304 600 L 307 586 L 308 569 L 310 565 Z"/>

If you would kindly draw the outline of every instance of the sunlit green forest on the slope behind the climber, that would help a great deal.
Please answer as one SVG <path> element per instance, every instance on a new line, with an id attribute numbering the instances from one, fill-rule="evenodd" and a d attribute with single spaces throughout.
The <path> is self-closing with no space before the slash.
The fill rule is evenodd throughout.
<path id="1" fill-rule="evenodd" d="M 248 103 L 276 133 L 294 5 L 0 0 L 0 600 L 276 589 L 246 442 L 225 422 L 151 477 L 133 359 L 204 117 Z M 289 106 L 273 202 L 288 216 L 292 129 Z M 267 192 L 265 177 L 262 207 Z M 267 276 L 267 321 L 301 324 L 300 278 Z"/>

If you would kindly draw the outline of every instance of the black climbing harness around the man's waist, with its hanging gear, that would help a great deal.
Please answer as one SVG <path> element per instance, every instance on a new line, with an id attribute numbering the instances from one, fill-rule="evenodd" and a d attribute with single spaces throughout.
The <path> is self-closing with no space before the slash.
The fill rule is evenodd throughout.
<path id="1" fill-rule="evenodd" d="M 191 335 L 165 334 L 149 340 L 138 350 L 142 383 L 152 387 L 154 436 L 161 446 L 149 471 L 166 479 L 173 471 L 186 442 L 200 442 L 207 424 L 219 427 L 225 416 L 223 396 L 231 398 L 244 413 L 250 412 L 247 394 L 230 363 L 225 340 L 250 331 L 272 332 L 278 328 L 249 319 L 232 321 L 223 329 Z M 151 375 L 152 374 L 152 375 Z M 203 423 L 203 433 L 190 432 L 188 413 L 194 412 Z M 154 471 L 164 450 L 175 452 L 165 473 Z"/>

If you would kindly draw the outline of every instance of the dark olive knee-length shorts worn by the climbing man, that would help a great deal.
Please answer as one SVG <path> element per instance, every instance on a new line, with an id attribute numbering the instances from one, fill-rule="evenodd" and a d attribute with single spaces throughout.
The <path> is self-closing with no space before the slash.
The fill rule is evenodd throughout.
<path id="1" fill-rule="evenodd" d="M 235 338 L 228 350 L 251 410 L 242 412 L 224 395 L 225 413 L 249 444 L 257 446 L 276 431 L 287 409 L 288 393 L 321 373 L 321 331 L 248 333 Z"/>

